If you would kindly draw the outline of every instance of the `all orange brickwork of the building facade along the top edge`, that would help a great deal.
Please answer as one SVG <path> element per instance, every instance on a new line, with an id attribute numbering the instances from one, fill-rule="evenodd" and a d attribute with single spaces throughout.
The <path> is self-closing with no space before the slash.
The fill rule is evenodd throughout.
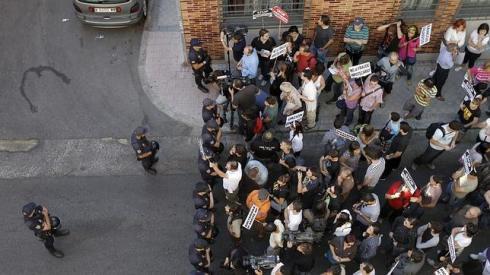
<path id="1" fill-rule="evenodd" d="M 213 58 L 223 59 L 223 48 L 220 42 L 220 26 L 223 25 L 223 1 L 224 0 L 180 0 L 184 37 L 186 44 L 191 38 L 197 37 L 204 41 L 206 48 Z M 243 1 L 243 0 L 242 0 Z M 432 16 L 405 17 L 401 9 L 403 0 L 304 0 L 303 18 L 300 24 L 303 34 L 312 37 L 315 23 L 320 15 L 328 14 L 331 25 L 336 31 L 335 43 L 329 53 L 337 53 L 343 49 L 343 35 L 347 25 L 356 16 L 365 19 L 370 29 L 370 43 L 367 53 L 376 52 L 378 41 L 381 41 L 384 33 L 376 32 L 376 27 L 393 22 L 398 18 L 405 20 L 407 24 L 422 26 L 432 23 L 431 42 L 424 45 L 423 52 L 437 52 L 439 41 L 448 26 L 457 18 L 458 11 L 465 0 L 435 1 L 431 12 Z M 277 1 L 281 6 L 281 1 Z M 490 3 L 489 3 L 490 5 Z M 286 12 L 288 10 L 286 9 Z M 417 15 L 417 11 L 414 12 Z M 427 19 L 428 18 L 428 19 Z M 251 21 L 251 16 L 250 16 Z M 302 23 L 302 24 L 301 24 Z M 251 30 L 253 36 L 255 30 Z"/>

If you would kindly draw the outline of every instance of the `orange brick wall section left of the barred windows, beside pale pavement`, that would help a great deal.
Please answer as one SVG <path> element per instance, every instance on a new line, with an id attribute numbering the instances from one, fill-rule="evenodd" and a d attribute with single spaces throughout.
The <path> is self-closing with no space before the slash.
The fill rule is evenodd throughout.
<path id="1" fill-rule="evenodd" d="M 182 24 L 186 49 L 192 38 L 199 38 L 215 59 L 223 58 L 220 41 L 219 5 L 220 0 L 180 0 Z"/>

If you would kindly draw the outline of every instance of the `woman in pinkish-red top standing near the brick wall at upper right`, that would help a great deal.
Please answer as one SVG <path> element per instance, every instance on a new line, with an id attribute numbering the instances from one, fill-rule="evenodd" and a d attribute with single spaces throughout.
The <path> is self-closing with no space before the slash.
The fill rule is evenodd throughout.
<path id="1" fill-rule="evenodd" d="M 407 69 L 407 83 L 412 85 L 413 65 L 416 62 L 417 51 L 420 50 L 419 31 L 417 26 L 408 27 L 407 33 L 403 34 L 398 43 L 399 59 L 405 64 Z"/>

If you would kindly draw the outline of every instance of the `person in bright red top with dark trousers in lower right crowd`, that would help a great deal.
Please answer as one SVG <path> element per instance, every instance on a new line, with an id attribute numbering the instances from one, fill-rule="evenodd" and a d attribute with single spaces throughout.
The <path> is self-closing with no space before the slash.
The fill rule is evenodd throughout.
<path id="1" fill-rule="evenodd" d="M 381 210 L 381 216 L 388 218 L 390 223 L 403 213 L 410 203 L 417 203 L 420 200 L 420 189 L 410 193 L 410 189 L 401 180 L 393 182 L 385 194 L 385 205 Z"/>

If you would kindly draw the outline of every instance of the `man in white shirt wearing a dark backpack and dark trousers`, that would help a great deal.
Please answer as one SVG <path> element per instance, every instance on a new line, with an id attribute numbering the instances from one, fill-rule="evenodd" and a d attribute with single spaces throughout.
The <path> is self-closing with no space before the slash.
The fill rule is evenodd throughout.
<path id="1" fill-rule="evenodd" d="M 429 140 L 429 145 L 425 152 L 413 160 L 412 170 L 415 171 L 420 165 L 425 165 L 434 170 L 435 166 L 432 162 L 444 151 L 450 151 L 456 147 L 456 140 L 462 127 L 463 125 L 458 121 L 451 121 L 448 124 L 439 126 Z"/>

